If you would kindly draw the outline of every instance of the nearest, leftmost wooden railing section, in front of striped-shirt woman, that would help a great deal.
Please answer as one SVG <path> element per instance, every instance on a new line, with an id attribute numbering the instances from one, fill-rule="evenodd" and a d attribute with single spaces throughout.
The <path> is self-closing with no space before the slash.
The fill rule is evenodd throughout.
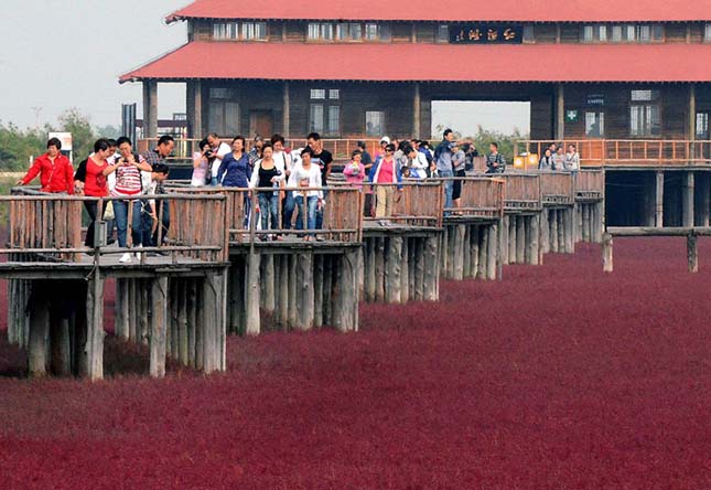
<path id="1" fill-rule="evenodd" d="M 82 215 L 84 202 L 95 202 L 98 215 L 104 214 L 110 199 L 62 194 L 46 194 L 33 189 L 14 188 L 11 195 L 0 196 L 0 203 L 9 205 L 10 233 L 8 245 L 0 254 L 28 254 L 28 262 L 79 262 L 82 254 L 95 257 L 142 252 L 170 255 L 173 263 L 192 258 L 211 263 L 224 263 L 228 257 L 225 234 L 225 198 L 222 195 L 198 196 L 187 194 L 143 195 L 142 201 L 155 200 L 168 203 L 171 213 L 170 230 L 162 223 L 163 206 L 155 221 L 157 246 L 99 248 L 84 245 Z M 128 206 L 127 244 L 131 244 L 133 206 Z M 163 241 L 163 237 L 166 239 Z M 165 242 L 165 243 L 164 243 Z"/>

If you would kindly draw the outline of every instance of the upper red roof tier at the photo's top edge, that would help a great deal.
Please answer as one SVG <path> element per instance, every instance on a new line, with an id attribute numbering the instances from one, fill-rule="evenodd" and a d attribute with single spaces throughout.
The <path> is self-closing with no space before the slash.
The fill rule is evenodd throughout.
<path id="1" fill-rule="evenodd" d="M 711 0 L 196 0 L 181 19 L 665 22 L 711 20 Z"/>

